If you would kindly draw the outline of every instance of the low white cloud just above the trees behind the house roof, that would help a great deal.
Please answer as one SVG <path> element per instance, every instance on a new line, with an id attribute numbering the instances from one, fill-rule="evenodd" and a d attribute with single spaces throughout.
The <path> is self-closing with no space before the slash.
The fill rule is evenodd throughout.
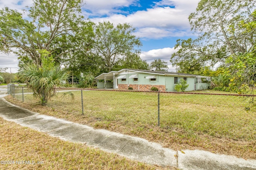
<path id="1" fill-rule="evenodd" d="M 163 48 L 163 49 L 153 49 L 150 51 L 142 51 L 140 58 L 146 60 L 149 64 L 155 59 L 161 59 L 166 61 L 168 64 L 168 71 L 175 72 L 175 67 L 170 63 L 171 55 L 176 52 L 174 48 Z"/>

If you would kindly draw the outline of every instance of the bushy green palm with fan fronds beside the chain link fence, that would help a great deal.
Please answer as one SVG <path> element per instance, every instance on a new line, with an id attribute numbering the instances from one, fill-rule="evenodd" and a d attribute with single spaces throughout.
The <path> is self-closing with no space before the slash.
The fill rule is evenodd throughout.
<path id="1" fill-rule="evenodd" d="M 37 66 L 28 64 L 20 69 L 20 80 L 28 84 L 34 96 L 40 99 L 40 103 L 45 106 L 52 96 L 56 94 L 56 86 L 60 85 L 70 77 L 70 72 L 61 70 L 59 66 Z"/>

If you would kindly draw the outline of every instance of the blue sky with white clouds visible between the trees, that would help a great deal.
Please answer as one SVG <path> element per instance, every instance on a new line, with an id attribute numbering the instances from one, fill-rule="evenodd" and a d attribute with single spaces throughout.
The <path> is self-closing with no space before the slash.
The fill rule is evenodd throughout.
<path id="1" fill-rule="evenodd" d="M 91 21 L 110 21 L 114 24 L 130 23 L 140 37 L 141 58 L 148 63 L 154 59 L 168 62 L 169 71 L 175 71 L 170 56 L 175 52 L 177 39 L 194 37 L 190 31 L 188 16 L 196 10 L 199 0 L 86 0 L 82 14 Z M 0 8 L 21 11 L 32 6 L 32 0 L 0 0 Z M 0 66 L 17 67 L 18 59 L 0 54 Z M 12 57 L 12 58 L 9 58 Z M 15 69 L 12 68 L 15 72 Z"/>

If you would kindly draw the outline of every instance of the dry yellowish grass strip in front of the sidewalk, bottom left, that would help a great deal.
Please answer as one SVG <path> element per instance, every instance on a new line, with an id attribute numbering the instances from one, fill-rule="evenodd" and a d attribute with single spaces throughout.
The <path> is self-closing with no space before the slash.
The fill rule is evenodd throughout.
<path id="1" fill-rule="evenodd" d="M 50 137 L 30 128 L 0 118 L 0 169 L 90 169 L 90 170 L 154 170 L 161 167 L 126 159 L 116 154 Z M 30 161 L 31 164 L 25 162 Z M 33 162 L 34 161 L 34 162 Z M 39 162 L 43 164 L 38 164 Z"/>

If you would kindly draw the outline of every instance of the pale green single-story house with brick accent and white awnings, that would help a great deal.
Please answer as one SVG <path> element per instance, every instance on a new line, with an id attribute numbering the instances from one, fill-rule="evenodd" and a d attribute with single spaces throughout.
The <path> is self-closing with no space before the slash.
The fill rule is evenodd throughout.
<path id="1" fill-rule="evenodd" d="M 122 69 L 102 73 L 95 78 L 97 88 L 150 91 L 151 87 L 158 88 L 159 91 L 175 92 L 175 85 L 180 79 L 184 79 L 189 84 L 186 91 L 205 90 L 210 87 L 210 77 L 185 74 L 179 72 L 150 71 L 138 69 Z"/>

